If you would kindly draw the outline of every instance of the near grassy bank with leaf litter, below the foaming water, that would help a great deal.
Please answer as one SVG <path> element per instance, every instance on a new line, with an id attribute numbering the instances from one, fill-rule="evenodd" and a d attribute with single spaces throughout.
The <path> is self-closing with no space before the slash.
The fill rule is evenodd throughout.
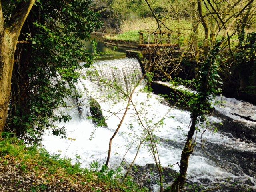
<path id="1" fill-rule="evenodd" d="M 79 156 L 77 156 L 79 159 Z M 27 147 L 17 138 L 0 140 L 0 191 L 6 192 L 146 192 L 130 178 L 120 182 L 121 174 L 97 162 L 91 168 L 72 164 L 69 158 L 50 155 L 43 148 Z"/>

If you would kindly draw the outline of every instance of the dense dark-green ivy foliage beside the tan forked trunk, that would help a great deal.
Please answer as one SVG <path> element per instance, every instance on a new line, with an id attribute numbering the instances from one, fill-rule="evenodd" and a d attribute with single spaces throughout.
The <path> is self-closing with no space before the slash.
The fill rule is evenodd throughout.
<path id="1" fill-rule="evenodd" d="M 78 61 L 87 67 L 96 54 L 82 42 L 90 40 L 90 32 L 101 25 L 90 10 L 91 3 L 38 1 L 30 12 L 19 37 L 29 44 L 17 47 L 8 118 L 8 126 L 17 135 L 27 132 L 37 140 L 44 128 L 55 129 L 54 122 L 70 120 L 68 114 L 56 114 L 54 109 L 66 105 L 64 98 L 79 97 L 74 91 L 82 68 Z M 54 133 L 64 134 L 63 129 Z"/>

